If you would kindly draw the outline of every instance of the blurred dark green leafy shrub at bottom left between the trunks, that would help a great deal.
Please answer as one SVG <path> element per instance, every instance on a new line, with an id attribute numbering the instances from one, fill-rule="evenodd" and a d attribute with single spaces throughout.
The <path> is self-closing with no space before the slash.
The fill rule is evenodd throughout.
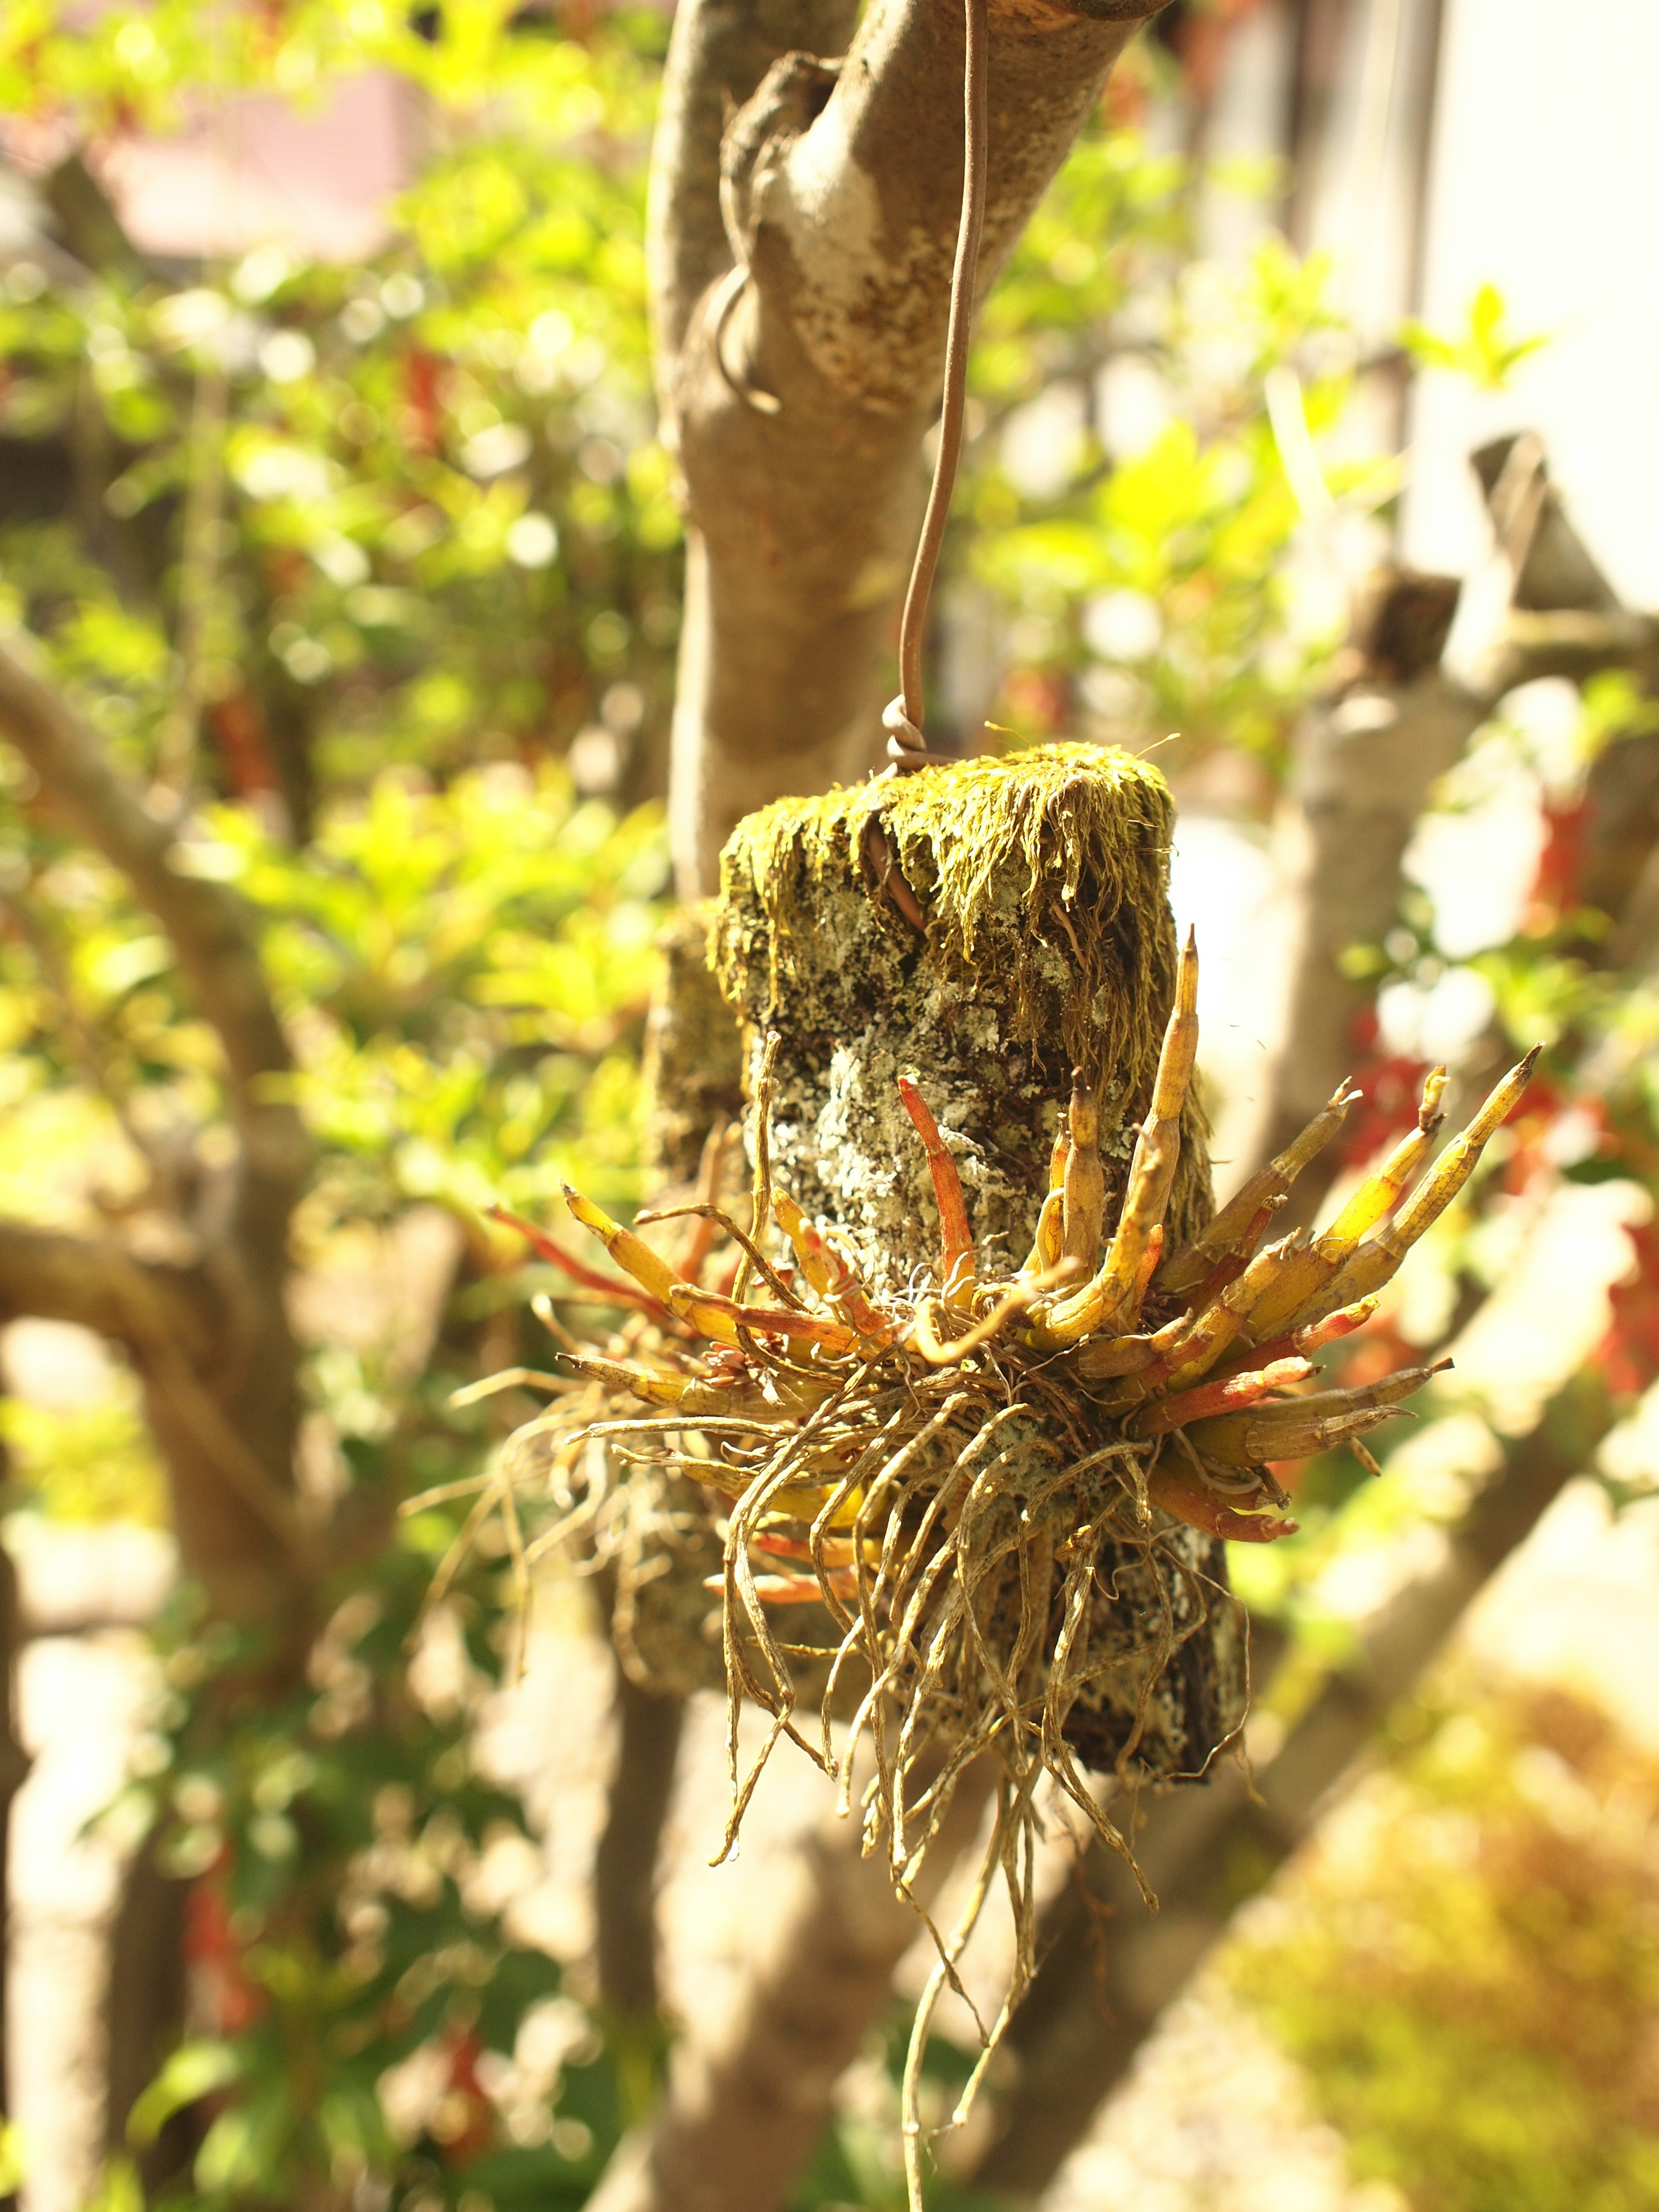
<path id="1" fill-rule="evenodd" d="M 144 2152 L 197 2115 L 195 2185 L 168 2203 L 283 2203 L 327 2177 L 341 2201 L 575 2208 L 617 2139 L 599 2037 L 513 1931 L 540 1874 L 522 1807 L 471 1763 L 500 1679 L 487 1568 L 451 1599 L 425 1701 L 411 1688 L 431 1533 L 405 1524 L 349 1577 L 299 1694 L 237 1690 L 237 1632 L 188 1601 L 161 1628 L 153 1725 L 106 1818 L 192 1885 L 197 2031 L 128 2124 Z M 230 1694 L 204 1697 L 215 1681 Z"/>

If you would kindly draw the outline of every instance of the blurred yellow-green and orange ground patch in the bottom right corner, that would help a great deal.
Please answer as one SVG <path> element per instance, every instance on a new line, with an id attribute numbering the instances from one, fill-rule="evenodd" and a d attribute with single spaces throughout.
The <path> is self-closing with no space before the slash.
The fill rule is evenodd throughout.
<path id="1" fill-rule="evenodd" d="M 1564 1692 L 1442 1681 L 1230 1982 L 1413 2212 L 1659 2199 L 1659 1774 Z"/>

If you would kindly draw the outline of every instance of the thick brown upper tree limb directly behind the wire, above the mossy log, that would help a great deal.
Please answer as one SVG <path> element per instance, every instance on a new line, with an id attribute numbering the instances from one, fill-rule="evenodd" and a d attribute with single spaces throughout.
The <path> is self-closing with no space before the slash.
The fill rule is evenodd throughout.
<path id="1" fill-rule="evenodd" d="M 991 283 L 1157 0 L 991 0 Z M 787 15 L 787 20 L 785 20 Z M 690 520 L 675 706 L 679 885 L 752 807 L 876 757 L 883 664 L 920 515 L 962 175 L 962 15 L 876 0 L 841 69 L 792 53 L 723 133 L 768 33 L 730 0 L 675 22 L 653 188 L 659 389 Z M 719 230 L 717 215 L 719 208 Z"/>

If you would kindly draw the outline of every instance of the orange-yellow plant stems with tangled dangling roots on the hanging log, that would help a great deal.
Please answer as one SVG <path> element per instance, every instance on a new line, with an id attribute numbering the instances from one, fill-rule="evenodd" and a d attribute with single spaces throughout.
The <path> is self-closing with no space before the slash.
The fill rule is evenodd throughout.
<path id="1" fill-rule="evenodd" d="M 858 1270 L 787 1192 L 772 1188 L 768 1053 L 754 1102 L 748 1228 L 714 1192 L 686 1212 L 679 1265 L 597 1206 L 571 1212 L 626 1274 L 650 1358 L 568 1354 L 568 1391 L 522 1429 L 489 1495 L 513 1515 L 513 1482 L 551 1471 L 566 1515 L 538 1544 L 619 1513 L 628 1484 L 699 1484 L 723 1509 L 719 1599 L 730 1697 L 737 1838 L 765 1756 L 790 1736 L 858 1809 L 867 1849 L 909 1893 L 967 1770 L 995 1763 L 998 1818 L 962 1922 L 938 1936 L 938 1993 L 1000 1871 L 1018 1927 L 1018 1969 L 987 2053 L 1033 1971 L 1037 1783 L 1046 1776 L 1128 1856 L 1124 1829 L 1084 1770 L 1121 1783 L 1172 1778 L 1164 1747 L 1190 1741 L 1188 1772 L 1243 1714 L 1197 1714 L 1183 1655 L 1199 1630 L 1239 1635 L 1219 1540 L 1294 1531 L 1274 1462 L 1352 1444 L 1389 1420 L 1436 1369 L 1407 1367 L 1360 1389 L 1310 1389 L 1314 1354 L 1358 1329 L 1411 1243 L 1469 1179 L 1526 1086 L 1528 1055 L 1425 1175 L 1442 1126 L 1444 1073 L 1429 1075 L 1416 1128 L 1318 1237 L 1272 1239 L 1307 1161 L 1358 1093 L 1345 1088 L 1188 1245 L 1164 1252 L 1197 1053 L 1197 953 L 1179 960 L 1175 1011 L 1115 1219 L 1082 1075 L 1062 1117 L 1031 1252 L 1000 1272 L 975 1252 L 949 1146 L 916 1082 L 905 1110 L 933 1179 L 938 1263 L 902 1294 L 872 1296 Z M 1416 1188 L 1413 1188 L 1416 1186 Z M 763 1239 L 783 1234 L 770 1259 Z M 540 1230 L 538 1248 L 586 1272 Z M 728 1287 L 701 1281 L 712 1239 L 741 1254 Z M 606 1455 L 630 1467 L 606 1486 Z M 595 1471 L 597 1462 L 597 1471 Z M 617 1522 L 626 1526 L 626 1513 Z M 805 1615 L 830 1624 L 790 1641 Z M 1230 1630 L 1217 1615 L 1228 1615 Z M 816 1690 L 816 1717 L 803 1686 Z M 770 1714 L 763 1752 L 739 1770 L 739 1712 Z M 834 1717 L 852 1714 L 838 1732 Z M 1148 1756 L 1148 1745 L 1159 1745 Z M 856 1792 L 867 1745 L 872 1781 Z M 865 1772 L 860 1767 L 860 1772 Z M 909 2170 L 920 2152 L 909 2084 Z"/>

